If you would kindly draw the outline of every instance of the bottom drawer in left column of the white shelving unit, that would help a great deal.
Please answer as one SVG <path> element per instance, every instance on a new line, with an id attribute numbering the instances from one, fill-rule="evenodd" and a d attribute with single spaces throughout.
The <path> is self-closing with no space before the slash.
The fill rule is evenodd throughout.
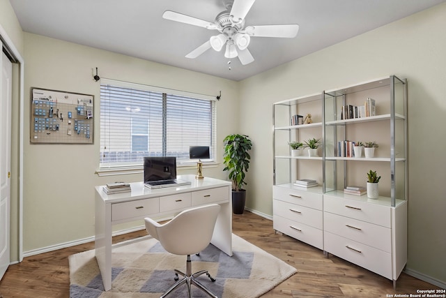
<path id="1" fill-rule="evenodd" d="M 309 245 L 323 248 L 322 230 L 277 215 L 273 216 L 273 228 Z"/>

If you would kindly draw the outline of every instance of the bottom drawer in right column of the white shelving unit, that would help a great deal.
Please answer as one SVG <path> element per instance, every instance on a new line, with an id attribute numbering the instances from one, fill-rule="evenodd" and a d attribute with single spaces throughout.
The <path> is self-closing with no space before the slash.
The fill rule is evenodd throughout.
<path id="1" fill-rule="evenodd" d="M 324 232 L 323 237 L 324 250 L 328 253 L 392 279 L 392 256 L 390 253 L 330 232 Z"/>

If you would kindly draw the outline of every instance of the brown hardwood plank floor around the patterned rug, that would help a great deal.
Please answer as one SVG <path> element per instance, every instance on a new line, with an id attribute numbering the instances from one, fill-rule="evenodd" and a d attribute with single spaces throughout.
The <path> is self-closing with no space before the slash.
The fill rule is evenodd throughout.
<path id="1" fill-rule="evenodd" d="M 286 235 L 275 233 L 272 221 L 245 211 L 233 215 L 233 233 L 298 269 L 262 298 L 296 297 L 391 297 L 438 289 L 402 273 L 396 290 L 392 281 L 330 255 Z M 146 231 L 114 237 L 114 241 L 145 236 Z M 69 297 L 68 256 L 94 247 L 90 242 L 24 258 L 11 265 L 0 282 L 0 297 Z M 388 295 L 388 296 L 387 296 Z"/>

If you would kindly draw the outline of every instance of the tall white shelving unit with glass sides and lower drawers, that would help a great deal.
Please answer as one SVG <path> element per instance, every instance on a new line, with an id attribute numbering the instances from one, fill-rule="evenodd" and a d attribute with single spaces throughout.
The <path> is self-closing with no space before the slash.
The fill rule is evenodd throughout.
<path id="1" fill-rule="evenodd" d="M 376 100 L 376 115 L 341 119 L 344 105 Z M 383 77 L 321 94 L 283 100 L 274 110 L 274 228 L 394 282 L 407 260 L 407 82 Z M 314 123 L 290 125 L 293 114 Z M 288 143 L 321 138 L 317 157 L 291 156 Z M 344 157 L 338 142 L 376 141 L 374 158 Z M 381 176 L 380 197 L 344 194 Z M 301 189 L 295 179 L 315 179 Z M 310 219 L 311 218 L 311 219 Z"/>

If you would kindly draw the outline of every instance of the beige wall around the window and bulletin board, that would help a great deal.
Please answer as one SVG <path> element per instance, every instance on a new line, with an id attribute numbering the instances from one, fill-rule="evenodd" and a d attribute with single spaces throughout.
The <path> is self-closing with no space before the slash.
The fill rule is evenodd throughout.
<path id="1" fill-rule="evenodd" d="M 24 34 L 25 140 L 24 140 L 24 251 L 91 237 L 94 234 L 94 186 L 112 181 L 141 181 L 141 174 L 98 177 L 100 82 L 93 69 L 114 80 L 217 96 L 217 156 L 222 140 L 238 129 L 238 85 L 210 75 L 84 47 L 61 40 Z M 30 144 L 30 88 L 93 94 L 94 144 Z M 220 146 L 221 145 L 221 146 Z M 194 173 L 194 169 L 179 174 Z M 222 165 L 204 168 L 204 175 L 224 179 Z M 141 225 L 141 223 L 138 223 Z M 128 228 L 128 225 L 125 225 Z M 120 227 L 124 228 L 124 227 Z"/>

